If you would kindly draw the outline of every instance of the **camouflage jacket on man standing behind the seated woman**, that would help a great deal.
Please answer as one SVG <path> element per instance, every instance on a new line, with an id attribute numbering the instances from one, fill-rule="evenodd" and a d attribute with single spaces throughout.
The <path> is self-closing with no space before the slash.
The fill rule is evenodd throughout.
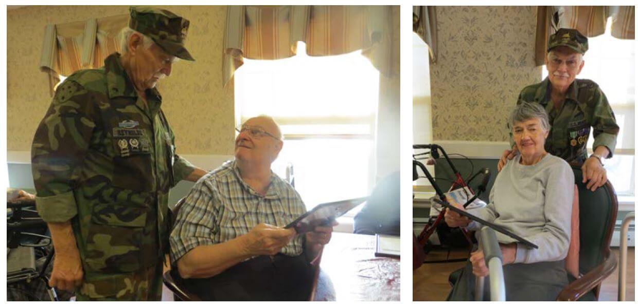
<path id="1" fill-rule="evenodd" d="M 605 146 L 609 149 L 609 157 L 612 157 L 619 128 L 607 97 L 598 84 L 586 79 L 574 80 L 560 109 L 554 108 L 551 103 L 550 86 L 547 78 L 529 85 L 521 90 L 517 102 L 536 102 L 545 107 L 551 125 L 545 150 L 572 164 L 582 164 L 587 159 L 587 141 L 590 128 L 593 128 L 593 148 Z"/>

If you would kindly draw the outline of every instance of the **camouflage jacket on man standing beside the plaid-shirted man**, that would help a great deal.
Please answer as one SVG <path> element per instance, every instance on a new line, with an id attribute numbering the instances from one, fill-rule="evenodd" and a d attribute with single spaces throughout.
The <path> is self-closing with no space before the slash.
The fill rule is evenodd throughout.
<path id="1" fill-rule="evenodd" d="M 112 54 L 59 85 L 33 139 L 36 206 L 71 220 L 85 270 L 131 272 L 168 247 L 168 190 L 193 171 L 175 155 L 156 89 L 147 104 Z"/>

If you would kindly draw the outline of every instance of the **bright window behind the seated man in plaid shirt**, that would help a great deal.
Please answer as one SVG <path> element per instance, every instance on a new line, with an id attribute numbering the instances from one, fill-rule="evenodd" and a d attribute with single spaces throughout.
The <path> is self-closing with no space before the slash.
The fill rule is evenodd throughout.
<path id="1" fill-rule="evenodd" d="M 375 183 L 379 73 L 360 51 L 273 61 L 244 59 L 235 73 L 235 121 L 265 114 L 284 134 L 272 169 L 286 178 L 308 209 L 369 195 Z"/>

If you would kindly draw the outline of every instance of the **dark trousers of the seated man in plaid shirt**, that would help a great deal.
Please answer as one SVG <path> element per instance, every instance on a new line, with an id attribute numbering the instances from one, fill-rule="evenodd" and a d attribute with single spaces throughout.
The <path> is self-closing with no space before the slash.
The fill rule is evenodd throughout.
<path id="1" fill-rule="evenodd" d="M 308 301 L 314 270 L 302 253 L 259 256 L 210 278 L 182 280 L 204 301 Z"/>

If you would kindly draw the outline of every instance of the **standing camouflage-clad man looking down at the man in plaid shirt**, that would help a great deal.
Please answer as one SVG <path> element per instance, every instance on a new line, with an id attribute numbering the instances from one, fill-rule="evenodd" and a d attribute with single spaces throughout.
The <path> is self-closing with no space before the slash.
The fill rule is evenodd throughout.
<path id="1" fill-rule="evenodd" d="M 130 8 L 122 55 L 59 86 L 31 161 L 36 205 L 56 259 L 50 285 L 78 300 L 159 300 L 168 251 L 168 190 L 205 171 L 175 154 L 156 83 L 170 75 L 189 21 Z"/>

